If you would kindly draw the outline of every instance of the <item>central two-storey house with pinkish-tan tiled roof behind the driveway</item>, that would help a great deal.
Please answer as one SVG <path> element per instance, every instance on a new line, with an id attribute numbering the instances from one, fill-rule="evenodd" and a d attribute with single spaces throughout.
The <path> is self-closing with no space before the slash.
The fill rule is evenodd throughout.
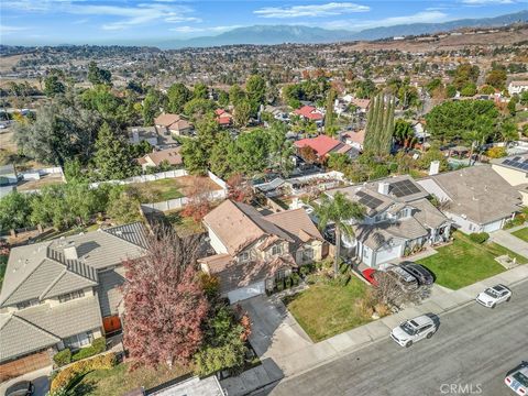
<path id="1" fill-rule="evenodd" d="M 226 200 L 204 218 L 216 254 L 200 258 L 201 270 L 220 280 L 231 302 L 264 294 L 293 268 L 321 260 L 321 233 L 304 209 L 263 215 Z"/>

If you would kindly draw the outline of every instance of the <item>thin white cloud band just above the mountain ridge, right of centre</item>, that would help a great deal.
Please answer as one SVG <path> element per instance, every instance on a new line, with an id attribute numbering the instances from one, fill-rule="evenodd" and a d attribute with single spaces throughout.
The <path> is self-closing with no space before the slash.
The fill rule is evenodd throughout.
<path id="1" fill-rule="evenodd" d="M 404 16 L 389 16 L 380 20 L 370 21 L 332 21 L 324 24 L 329 29 L 346 29 L 351 31 L 358 31 L 362 29 L 378 28 L 378 26 L 394 26 L 398 24 L 410 23 L 431 23 L 431 22 L 444 22 L 448 14 L 440 11 L 421 11 L 411 15 Z"/>

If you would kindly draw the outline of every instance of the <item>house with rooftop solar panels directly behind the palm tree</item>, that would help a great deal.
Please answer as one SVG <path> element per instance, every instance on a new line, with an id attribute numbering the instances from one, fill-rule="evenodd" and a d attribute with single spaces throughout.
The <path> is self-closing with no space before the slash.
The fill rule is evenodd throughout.
<path id="1" fill-rule="evenodd" d="M 451 221 L 427 199 L 429 193 L 408 175 L 326 194 L 332 197 L 338 191 L 365 208 L 362 221 L 351 221 L 355 238 L 342 240 L 351 255 L 371 267 L 449 239 Z"/>

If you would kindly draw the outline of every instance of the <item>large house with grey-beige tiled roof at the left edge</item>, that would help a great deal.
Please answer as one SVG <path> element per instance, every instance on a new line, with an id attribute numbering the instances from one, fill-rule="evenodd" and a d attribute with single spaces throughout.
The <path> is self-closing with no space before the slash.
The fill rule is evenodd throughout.
<path id="1" fill-rule="evenodd" d="M 12 249 L 0 294 L 0 381 L 120 331 L 122 261 L 145 249 L 139 222 Z"/>

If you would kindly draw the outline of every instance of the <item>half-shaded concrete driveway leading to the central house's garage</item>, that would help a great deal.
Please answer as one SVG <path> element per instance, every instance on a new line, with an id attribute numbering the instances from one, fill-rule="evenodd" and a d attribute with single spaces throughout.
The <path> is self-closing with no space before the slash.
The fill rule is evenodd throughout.
<path id="1" fill-rule="evenodd" d="M 252 332 L 250 342 L 257 355 L 284 359 L 312 342 L 276 296 L 257 296 L 239 305 L 248 311 Z"/>

